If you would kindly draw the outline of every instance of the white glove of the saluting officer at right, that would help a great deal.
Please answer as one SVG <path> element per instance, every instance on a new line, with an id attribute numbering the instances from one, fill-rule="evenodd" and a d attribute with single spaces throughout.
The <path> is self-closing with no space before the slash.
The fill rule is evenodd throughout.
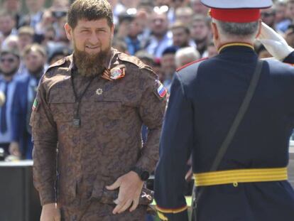
<path id="1" fill-rule="evenodd" d="M 263 22 L 261 23 L 261 33 L 257 39 L 278 60 L 285 59 L 294 50 L 281 35 Z"/>

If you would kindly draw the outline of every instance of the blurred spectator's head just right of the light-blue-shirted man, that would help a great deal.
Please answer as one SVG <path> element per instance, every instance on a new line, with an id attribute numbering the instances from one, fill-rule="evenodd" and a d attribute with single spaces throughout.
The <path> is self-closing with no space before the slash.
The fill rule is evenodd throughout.
<path id="1" fill-rule="evenodd" d="M 195 43 L 190 41 L 190 29 L 183 23 L 176 21 L 171 26 L 170 31 L 173 33 L 173 45 L 178 48 L 195 47 Z"/>

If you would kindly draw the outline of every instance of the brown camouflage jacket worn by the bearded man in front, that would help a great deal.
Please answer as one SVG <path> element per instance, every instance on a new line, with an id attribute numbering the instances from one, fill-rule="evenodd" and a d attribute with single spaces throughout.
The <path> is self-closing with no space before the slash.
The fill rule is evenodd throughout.
<path id="1" fill-rule="evenodd" d="M 41 204 L 75 199 L 80 181 L 87 195 L 101 198 L 105 185 L 128 173 L 132 166 L 153 171 L 166 96 L 157 75 L 138 58 L 111 49 L 111 68 L 124 66 L 118 80 L 95 77 L 80 103 L 80 127 L 73 125 L 77 102 L 72 90 L 72 55 L 48 68 L 40 80 L 31 115 L 33 132 L 33 178 Z M 77 95 L 89 77 L 75 75 Z M 143 146 L 141 126 L 148 126 Z M 58 169 L 56 149 L 58 147 Z"/>

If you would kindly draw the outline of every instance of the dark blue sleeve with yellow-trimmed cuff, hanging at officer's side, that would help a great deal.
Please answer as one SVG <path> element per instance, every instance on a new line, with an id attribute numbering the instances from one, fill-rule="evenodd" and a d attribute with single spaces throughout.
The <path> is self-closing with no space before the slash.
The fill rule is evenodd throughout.
<path id="1" fill-rule="evenodd" d="M 160 137 L 155 178 L 155 199 L 162 220 L 187 220 L 184 191 L 187 161 L 193 144 L 192 119 L 192 104 L 176 73 Z"/>

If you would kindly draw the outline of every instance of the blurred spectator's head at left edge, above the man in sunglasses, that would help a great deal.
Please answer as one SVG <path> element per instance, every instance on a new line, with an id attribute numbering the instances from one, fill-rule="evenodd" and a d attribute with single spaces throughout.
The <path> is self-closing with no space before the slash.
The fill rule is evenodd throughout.
<path id="1" fill-rule="evenodd" d="M 16 18 L 8 11 L 0 11 L 0 32 L 4 39 L 16 35 Z"/>

